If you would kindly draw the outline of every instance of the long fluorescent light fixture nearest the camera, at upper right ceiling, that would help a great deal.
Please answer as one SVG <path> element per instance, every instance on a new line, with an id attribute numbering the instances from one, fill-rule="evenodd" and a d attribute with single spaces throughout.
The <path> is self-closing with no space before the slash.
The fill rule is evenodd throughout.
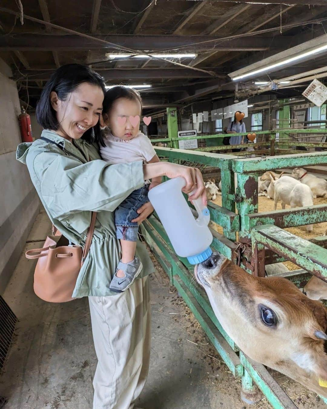
<path id="1" fill-rule="evenodd" d="M 240 70 L 231 72 L 228 76 L 230 76 L 233 81 L 236 81 L 254 76 L 260 72 L 273 72 L 278 70 L 278 67 L 292 64 L 298 60 L 309 60 L 326 51 L 327 42 L 326 36 L 324 35 L 291 47 L 271 57 L 264 58 L 262 61 L 258 61 Z"/>

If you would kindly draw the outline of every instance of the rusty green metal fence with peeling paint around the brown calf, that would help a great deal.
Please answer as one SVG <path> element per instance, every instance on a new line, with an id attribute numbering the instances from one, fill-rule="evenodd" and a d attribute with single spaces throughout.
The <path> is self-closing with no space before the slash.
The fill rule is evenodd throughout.
<path id="1" fill-rule="evenodd" d="M 303 131 L 301 130 L 301 133 L 304 133 Z M 262 134 L 269 135 L 271 131 L 263 131 Z M 201 136 L 206 137 L 213 135 Z M 176 140 L 178 139 L 172 138 L 172 142 Z M 222 206 L 212 202 L 208 204 L 211 220 L 223 227 L 223 234 L 211 230 L 213 249 L 257 276 L 264 276 L 265 264 L 291 260 L 303 270 L 283 273 L 280 276 L 288 278 L 298 286 L 305 285 L 311 274 L 327 281 L 326 238 L 308 241 L 283 230 L 284 227 L 326 222 L 327 205 L 258 213 L 260 174 L 267 170 L 324 165 L 327 164 L 327 152 L 243 158 L 206 151 L 157 147 L 155 150 L 159 157 L 170 162 L 186 161 L 220 169 Z M 237 177 L 236 189 L 234 175 Z M 246 357 L 224 332 L 204 290 L 194 287 L 191 283 L 193 267 L 186 258 L 175 255 L 166 231 L 155 215 L 143 222 L 141 231 L 171 283 L 185 299 L 234 377 L 242 379 L 242 395 L 251 400 L 257 394 L 257 385 L 274 408 L 296 408 L 264 366 Z M 325 402 L 327 403 L 326 400 Z"/>

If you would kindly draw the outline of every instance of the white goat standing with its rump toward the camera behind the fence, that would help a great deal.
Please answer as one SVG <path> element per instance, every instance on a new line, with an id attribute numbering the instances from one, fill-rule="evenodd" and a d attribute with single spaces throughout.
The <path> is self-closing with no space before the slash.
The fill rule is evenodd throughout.
<path id="1" fill-rule="evenodd" d="M 271 183 L 275 189 L 273 196 L 275 210 L 278 200 L 282 201 L 282 209 L 285 209 L 285 205 L 291 207 L 313 206 L 314 197 L 311 189 L 299 180 L 289 176 L 274 180 L 271 175 Z M 307 231 L 312 231 L 312 225 L 307 225 Z"/>

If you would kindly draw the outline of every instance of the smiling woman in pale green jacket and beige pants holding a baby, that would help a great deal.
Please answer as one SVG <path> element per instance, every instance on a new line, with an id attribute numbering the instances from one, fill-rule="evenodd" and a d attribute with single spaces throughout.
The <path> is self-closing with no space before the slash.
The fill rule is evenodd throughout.
<path id="1" fill-rule="evenodd" d="M 105 92 L 103 79 L 88 67 L 58 68 L 42 91 L 36 108 L 41 138 L 20 144 L 17 158 L 27 164 L 31 180 L 52 223 L 72 243 L 84 245 L 91 211 L 97 212 L 90 252 L 78 275 L 73 297 L 89 297 L 98 365 L 94 375 L 93 408 L 134 406 L 148 374 L 150 303 L 147 275 L 153 266 L 140 242 L 137 255 L 142 279 L 119 295 L 109 290 L 119 262 L 114 209 L 144 180 L 167 175 L 186 179 L 190 199 L 205 190 L 198 169 L 168 162 L 109 165 L 100 159 L 103 144 L 99 118 Z M 141 223 L 152 213 L 150 203 L 138 213 Z"/>

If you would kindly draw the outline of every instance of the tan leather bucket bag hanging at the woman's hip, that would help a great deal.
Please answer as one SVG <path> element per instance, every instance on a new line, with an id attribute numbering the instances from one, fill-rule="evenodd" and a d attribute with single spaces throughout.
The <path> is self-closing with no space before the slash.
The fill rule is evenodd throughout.
<path id="1" fill-rule="evenodd" d="M 38 258 L 34 271 L 34 292 L 52 303 L 72 301 L 76 280 L 81 266 L 90 250 L 94 232 L 96 212 L 92 212 L 84 250 L 77 245 L 67 245 L 68 240 L 57 230 L 47 236 L 41 249 L 28 250 L 27 258 Z"/>

